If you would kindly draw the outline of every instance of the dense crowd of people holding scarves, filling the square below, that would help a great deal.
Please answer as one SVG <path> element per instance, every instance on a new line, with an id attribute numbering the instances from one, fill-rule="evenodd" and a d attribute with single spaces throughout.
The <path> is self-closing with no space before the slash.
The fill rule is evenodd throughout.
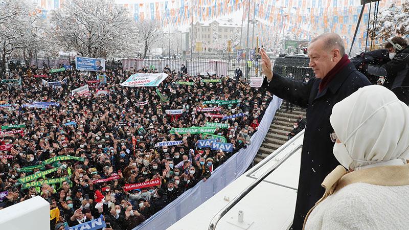
<path id="1" fill-rule="evenodd" d="M 202 82 L 188 75 L 186 66 L 166 70 L 169 76 L 157 88 L 120 86 L 133 73 L 157 70 L 107 70 L 106 84 L 90 88 L 90 96 L 72 97 L 71 90 L 94 81 L 98 73 L 75 67 L 52 72 L 48 66 L 15 67 L 7 78 L 20 83 L 0 84 L 0 209 L 41 196 L 50 202 L 51 228 L 59 230 L 101 214 L 106 229 L 139 225 L 250 145 L 272 99 L 235 78 L 213 76 L 220 82 Z M 47 86 L 42 80 L 63 83 Z M 97 89 L 108 94 L 97 95 Z M 239 101 L 203 103 L 212 100 Z M 35 102 L 47 106 L 26 106 Z M 202 110 L 210 107 L 218 109 Z M 184 112 L 168 115 L 167 109 Z M 222 118 L 234 114 L 241 116 Z M 208 122 L 226 124 L 214 135 L 233 144 L 232 152 L 199 148 L 198 140 L 212 138 L 207 134 L 171 132 Z M 155 146 L 167 141 L 181 144 Z M 160 185 L 124 187 L 152 180 Z"/>

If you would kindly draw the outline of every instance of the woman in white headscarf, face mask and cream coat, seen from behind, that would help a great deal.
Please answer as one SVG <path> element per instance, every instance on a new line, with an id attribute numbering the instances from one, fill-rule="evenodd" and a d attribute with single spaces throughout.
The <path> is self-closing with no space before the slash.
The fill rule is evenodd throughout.
<path id="1" fill-rule="evenodd" d="M 324 196 L 305 229 L 409 229 L 409 108 L 371 85 L 334 105 L 333 153 L 343 165 L 323 181 Z"/>

